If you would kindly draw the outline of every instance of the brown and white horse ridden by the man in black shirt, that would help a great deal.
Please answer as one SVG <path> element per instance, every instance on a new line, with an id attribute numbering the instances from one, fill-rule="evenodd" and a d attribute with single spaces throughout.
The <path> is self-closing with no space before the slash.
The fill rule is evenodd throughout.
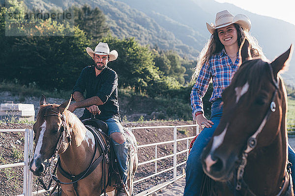
<path id="1" fill-rule="evenodd" d="M 120 180 L 116 172 L 109 180 L 108 172 L 113 165 L 107 136 L 98 131 L 100 139 L 96 139 L 87 125 L 67 110 L 69 104 L 70 100 L 61 105 L 46 104 L 46 98 L 42 96 L 33 126 L 36 146 L 30 170 L 34 175 L 45 175 L 48 168 L 51 170 L 51 160 L 59 154 L 58 179 L 55 180 L 61 184 L 62 196 L 99 196 L 104 191 L 111 192 Z M 126 138 L 130 143 L 127 183 L 132 195 L 133 177 L 138 166 L 137 142 L 131 132 L 126 133 Z M 97 140 L 105 145 L 97 146 Z M 55 178 L 54 173 L 51 175 Z"/>

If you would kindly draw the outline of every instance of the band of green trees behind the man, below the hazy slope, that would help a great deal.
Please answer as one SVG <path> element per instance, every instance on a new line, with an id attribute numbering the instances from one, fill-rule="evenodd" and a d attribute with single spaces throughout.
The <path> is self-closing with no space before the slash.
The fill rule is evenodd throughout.
<path id="1" fill-rule="evenodd" d="M 2 84 L 12 82 L 24 85 L 24 88 L 70 91 L 82 69 L 93 64 L 86 47 L 94 49 L 102 41 L 119 53 L 118 59 L 108 66 L 118 73 L 119 88 L 126 92 L 123 95 L 146 96 L 157 99 L 159 103 L 173 100 L 177 105 L 172 107 L 178 108 L 182 114 L 186 113 L 182 115 L 178 112 L 178 118 L 188 120 L 192 86 L 189 78 L 194 61 L 181 57 L 173 50 L 141 45 L 134 38 L 115 37 L 107 17 L 97 7 L 69 7 L 64 12 L 73 13 L 71 21 L 36 16 L 28 19 L 27 13 L 30 12 L 41 13 L 40 10 L 29 10 L 18 0 L 9 0 L 1 6 Z M 58 13 L 59 10 L 52 9 L 52 12 Z M 16 15 L 10 17 L 11 13 Z M 43 12 L 43 16 L 45 14 Z M 10 17 L 9 20 L 5 16 Z M 25 28 L 16 26 L 32 22 L 34 25 Z M 171 111 L 174 110 L 171 108 Z M 157 109 L 154 108 L 154 111 Z M 165 113 L 162 112 L 165 118 L 169 118 Z M 173 116 L 177 118 L 175 114 Z"/>

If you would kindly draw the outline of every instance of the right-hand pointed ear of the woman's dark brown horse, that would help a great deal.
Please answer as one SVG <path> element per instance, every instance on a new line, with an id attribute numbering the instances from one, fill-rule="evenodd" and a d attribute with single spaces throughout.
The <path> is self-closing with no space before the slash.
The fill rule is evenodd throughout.
<path id="1" fill-rule="evenodd" d="M 291 44 L 290 48 L 286 52 L 281 54 L 279 57 L 277 57 L 274 61 L 270 63 L 275 77 L 277 76 L 279 71 L 288 67 L 288 64 L 292 58 L 292 53 L 293 44 Z"/>

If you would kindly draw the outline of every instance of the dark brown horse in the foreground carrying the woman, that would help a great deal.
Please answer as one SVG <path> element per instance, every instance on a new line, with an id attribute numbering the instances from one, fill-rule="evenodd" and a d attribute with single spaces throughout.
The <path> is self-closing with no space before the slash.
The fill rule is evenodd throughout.
<path id="1" fill-rule="evenodd" d="M 221 196 L 294 196 L 288 173 L 287 95 L 278 72 L 292 46 L 273 62 L 252 59 L 246 40 L 238 72 L 225 89 L 223 116 L 204 148 L 204 172 Z"/>

